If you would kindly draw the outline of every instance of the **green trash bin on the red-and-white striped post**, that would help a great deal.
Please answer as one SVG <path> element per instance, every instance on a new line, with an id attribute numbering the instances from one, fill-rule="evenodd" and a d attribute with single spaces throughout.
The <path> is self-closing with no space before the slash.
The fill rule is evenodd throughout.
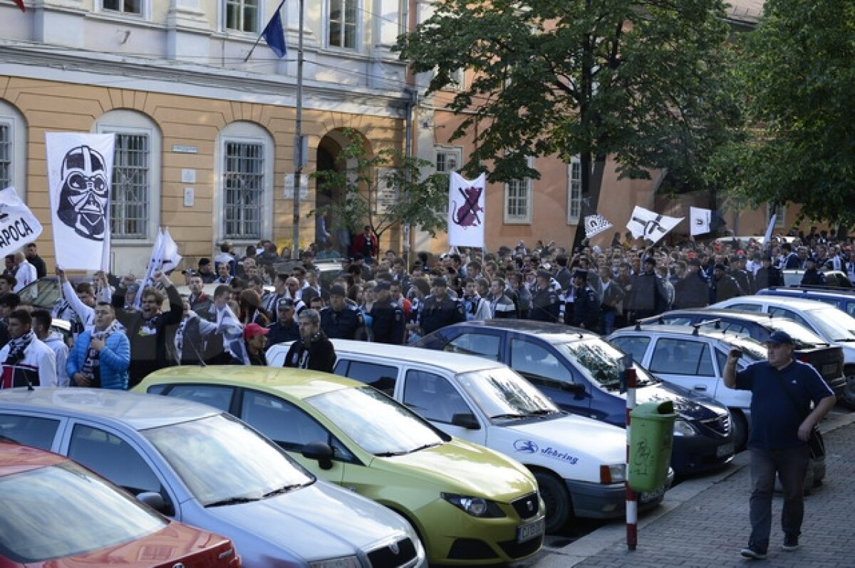
<path id="1" fill-rule="evenodd" d="M 674 403 L 647 402 L 629 412 L 627 480 L 635 491 L 653 491 L 668 477 L 674 441 Z"/>

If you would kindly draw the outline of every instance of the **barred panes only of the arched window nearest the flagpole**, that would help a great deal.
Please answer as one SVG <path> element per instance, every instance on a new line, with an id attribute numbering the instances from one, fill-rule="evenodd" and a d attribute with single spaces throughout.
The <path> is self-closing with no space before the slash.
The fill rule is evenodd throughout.
<path id="1" fill-rule="evenodd" d="M 264 146 L 227 141 L 223 164 L 225 237 L 262 238 Z"/>

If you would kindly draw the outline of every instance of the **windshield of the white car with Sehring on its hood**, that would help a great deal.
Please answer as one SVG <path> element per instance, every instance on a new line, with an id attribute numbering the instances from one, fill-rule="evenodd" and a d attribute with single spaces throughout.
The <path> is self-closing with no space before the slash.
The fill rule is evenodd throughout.
<path id="1" fill-rule="evenodd" d="M 491 418 L 560 412 L 543 393 L 507 367 L 463 373 L 457 382 Z"/>

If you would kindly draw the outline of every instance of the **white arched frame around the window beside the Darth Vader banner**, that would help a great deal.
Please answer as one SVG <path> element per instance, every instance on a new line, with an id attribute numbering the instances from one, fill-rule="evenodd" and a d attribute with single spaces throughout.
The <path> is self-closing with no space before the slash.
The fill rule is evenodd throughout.
<path id="1" fill-rule="evenodd" d="M 99 116 L 93 130 L 101 134 L 145 134 L 149 137 L 149 221 L 145 228 L 145 237 L 129 239 L 114 237 L 112 243 L 115 246 L 153 243 L 161 220 L 162 136 L 160 128 L 155 121 L 142 113 L 120 109 L 110 110 Z M 110 202 L 112 203 L 112 197 Z"/>

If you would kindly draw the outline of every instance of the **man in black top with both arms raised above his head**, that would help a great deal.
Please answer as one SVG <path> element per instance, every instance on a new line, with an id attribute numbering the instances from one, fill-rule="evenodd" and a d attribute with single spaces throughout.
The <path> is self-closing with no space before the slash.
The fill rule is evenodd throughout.
<path id="1" fill-rule="evenodd" d="M 181 322 L 184 306 L 169 276 L 162 270 L 154 273 L 154 281 L 159 282 L 169 299 L 169 311 L 161 312 L 163 293 L 154 287 L 144 288 L 140 292 L 142 304 L 140 311 L 117 309 L 116 318 L 127 331 L 131 341 L 131 369 L 129 387 L 139 384 L 149 373 L 169 365 L 166 346 L 167 326 Z M 118 290 L 113 296 L 113 305 L 125 305 L 125 291 Z"/>

